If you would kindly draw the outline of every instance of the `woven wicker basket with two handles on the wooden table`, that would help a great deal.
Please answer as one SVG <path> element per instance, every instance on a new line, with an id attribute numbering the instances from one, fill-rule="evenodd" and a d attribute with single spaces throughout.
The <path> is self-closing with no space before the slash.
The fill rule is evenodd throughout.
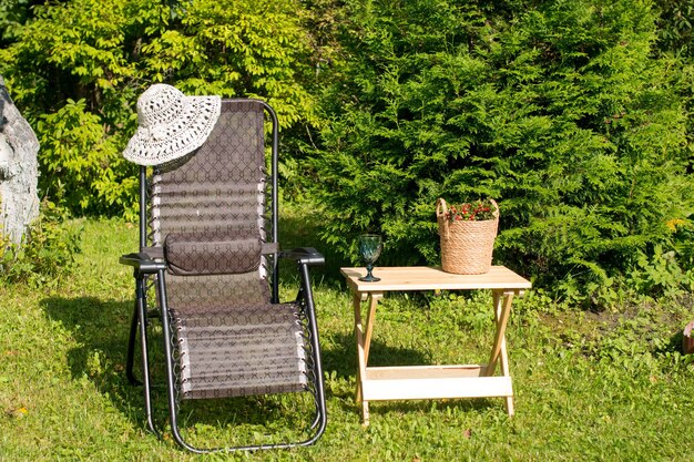
<path id="1" fill-rule="evenodd" d="M 481 275 L 491 268 L 494 239 L 499 227 L 499 206 L 493 219 L 450 220 L 447 218 L 446 201 L 436 204 L 436 217 L 441 239 L 441 267 L 446 273 Z"/>

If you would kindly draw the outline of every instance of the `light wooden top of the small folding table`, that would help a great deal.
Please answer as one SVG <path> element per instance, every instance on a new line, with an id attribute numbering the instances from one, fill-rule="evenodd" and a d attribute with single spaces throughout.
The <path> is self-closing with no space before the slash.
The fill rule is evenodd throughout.
<path id="1" fill-rule="evenodd" d="M 506 266 L 492 266 L 483 275 L 455 275 L 438 267 L 394 266 L 375 267 L 377 283 L 359 280 L 366 268 L 340 268 L 349 287 L 357 292 L 379 292 L 389 290 L 465 290 L 465 289 L 529 289 L 529 280 L 511 271 Z"/>

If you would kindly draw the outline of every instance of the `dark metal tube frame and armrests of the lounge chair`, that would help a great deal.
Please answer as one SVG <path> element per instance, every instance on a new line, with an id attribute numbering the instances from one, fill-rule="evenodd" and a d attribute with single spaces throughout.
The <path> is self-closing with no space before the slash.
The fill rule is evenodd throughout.
<path id="1" fill-rule="evenodd" d="M 170 310 L 166 300 L 166 269 L 167 264 L 161 248 L 149 247 L 147 238 L 147 168 L 140 167 L 140 251 L 136 254 L 123 255 L 120 263 L 133 267 L 135 279 L 135 302 L 132 322 L 130 327 L 130 338 L 127 343 L 126 358 L 126 376 L 131 383 L 142 384 L 144 392 L 144 408 L 147 429 L 161 437 L 153 418 L 152 405 L 152 381 L 150 371 L 149 357 L 149 333 L 147 327 L 150 317 L 155 316 L 161 320 L 164 337 L 164 356 L 166 358 L 166 394 L 169 405 L 169 417 L 171 420 L 171 430 L 174 440 L 184 449 L 195 453 L 208 452 L 228 452 L 228 451 L 255 451 L 265 449 L 282 449 L 293 446 L 305 446 L 315 443 L 324 433 L 327 424 L 327 412 L 325 403 L 325 386 L 323 380 L 323 369 L 320 362 L 320 347 L 318 339 L 318 328 L 315 315 L 314 297 L 310 285 L 309 266 L 323 265 L 324 257 L 314 248 L 298 248 L 288 251 L 278 250 L 278 121 L 275 111 L 265 102 L 259 100 L 235 99 L 225 100 L 229 102 L 254 101 L 262 104 L 266 115 L 272 123 L 272 164 L 269 172 L 271 179 L 271 208 L 272 208 L 272 232 L 267 236 L 271 244 L 275 244 L 274 250 L 269 254 L 271 261 L 271 302 L 279 302 L 279 258 L 290 258 L 296 261 L 299 273 L 300 288 L 298 290 L 296 304 L 302 306 L 307 319 L 307 329 L 309 331 L 308 341 L 310 342 L 310 352 L 313 355 L 313 376 L 315 378 L 315 405 L 316 413 L 310 423 L 312 434 L 304 441 L 282 442 L 275 444 L 251 444 L 241 446 L 225 446 L 213 449 L 201 449 L 191 445 L 178 430 L 177 403 L 176 403 L 176 378 L 174 371 L 174 358 L 172 355 L 172 336 L 170 327 Z M 147 284 L 153 278 L 159 294 L 159 312 L 149 312 L 147 310 Z M 140 337 L 140 349 L 142 355 L 142 380 L 135 378 L 134 358 L 136 348 L 136 338 Z"/>

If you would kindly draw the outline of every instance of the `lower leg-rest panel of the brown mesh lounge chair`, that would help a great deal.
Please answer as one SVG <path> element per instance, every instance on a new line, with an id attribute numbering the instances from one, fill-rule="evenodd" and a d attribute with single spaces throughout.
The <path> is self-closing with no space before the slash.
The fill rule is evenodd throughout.
<path id="1" fill-rule="evenodd" d="M 298 306 L 223 308 L 173 320 L 184 399 L 303 391 L 307 384 Z"/>

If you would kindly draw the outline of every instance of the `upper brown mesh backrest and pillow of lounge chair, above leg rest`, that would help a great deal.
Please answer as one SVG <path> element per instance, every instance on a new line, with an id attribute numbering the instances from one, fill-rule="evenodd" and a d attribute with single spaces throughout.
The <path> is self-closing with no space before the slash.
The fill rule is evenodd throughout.
<path id="1" fill-rule="evenodd" d="M 263 135 L 261 102 L 224 101 L 205 144 L 155 170 L 150 225 L 152 243 L 164 248 L 173 276 L 167 278 L 173 311 L 229 300 L 267 302 L 267 265 L 261 251 L 268 235 Z"/>

